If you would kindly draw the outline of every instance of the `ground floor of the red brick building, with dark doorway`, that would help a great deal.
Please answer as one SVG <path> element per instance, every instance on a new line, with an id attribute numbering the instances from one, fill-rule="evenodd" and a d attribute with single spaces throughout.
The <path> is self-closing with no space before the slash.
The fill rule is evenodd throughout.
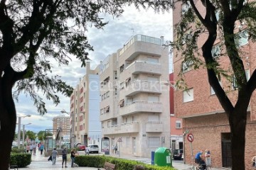
<path id="1" fill-rule="evenodd" d="M 187 137 L 184 137 L 184 161 L 186 164 L 193 162 L 194 155 L 201 149 L 209 149 L 212 167 L 229 168 L 232 165 L 230 126 L 225 113 L 184 118 L 183 130 L 193 135 L 191 143 L 188 142 Z M 245 134 L 245 169 L 252 169 L 251 159 L 256 154 L 255 132 L 256 121 L 250 121 L 250 113 L 248 113 Z"/>

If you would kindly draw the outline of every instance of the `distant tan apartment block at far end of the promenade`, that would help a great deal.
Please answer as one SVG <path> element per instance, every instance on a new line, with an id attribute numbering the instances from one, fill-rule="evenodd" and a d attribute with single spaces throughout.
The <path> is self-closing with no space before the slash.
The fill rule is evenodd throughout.
<path id="1" fill-rule="evenodd" d="M 56 137 L 58 128 L 61 128 L 61 136 L 70 136 L 70 118 L 68 116 L 59 115 L 53 118 L 53 136 Z"/>

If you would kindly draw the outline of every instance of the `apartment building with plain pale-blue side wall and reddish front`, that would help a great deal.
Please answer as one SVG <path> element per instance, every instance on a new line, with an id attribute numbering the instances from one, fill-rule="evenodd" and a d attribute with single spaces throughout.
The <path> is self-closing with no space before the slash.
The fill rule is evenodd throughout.
<path id="1" fill-rule="evenodd" d="M 90 69 L 90 62 L 86 62 L 86 74 L 70 97 L 72 147 L 75 142 L 100 146 L 100 77 L 97 73 L 97 68 Z"/>

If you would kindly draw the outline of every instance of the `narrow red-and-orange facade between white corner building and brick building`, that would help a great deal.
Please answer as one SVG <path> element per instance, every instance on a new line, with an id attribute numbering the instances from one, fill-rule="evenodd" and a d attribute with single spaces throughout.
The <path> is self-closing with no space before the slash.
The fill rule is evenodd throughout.
<path id="1" fill-rule="evenodd" d="M 169 74 L 170 81 L 170 128 L 171 128 L 171 151 L 183 149 L 182 119 L 177 118 L 174 111 L 174 73 Z"/>

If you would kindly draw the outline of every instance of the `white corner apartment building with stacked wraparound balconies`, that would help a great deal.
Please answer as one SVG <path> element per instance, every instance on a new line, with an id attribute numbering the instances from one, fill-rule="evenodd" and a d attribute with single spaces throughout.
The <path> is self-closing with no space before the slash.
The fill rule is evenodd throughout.
<path id="1" fill-rule="evenodd" d="M 102 137 L 119 154 L 151 157 L 158 147 L 170 147 L 169 50 L 163 42 L 135 35 L 100 64 Z"/>

